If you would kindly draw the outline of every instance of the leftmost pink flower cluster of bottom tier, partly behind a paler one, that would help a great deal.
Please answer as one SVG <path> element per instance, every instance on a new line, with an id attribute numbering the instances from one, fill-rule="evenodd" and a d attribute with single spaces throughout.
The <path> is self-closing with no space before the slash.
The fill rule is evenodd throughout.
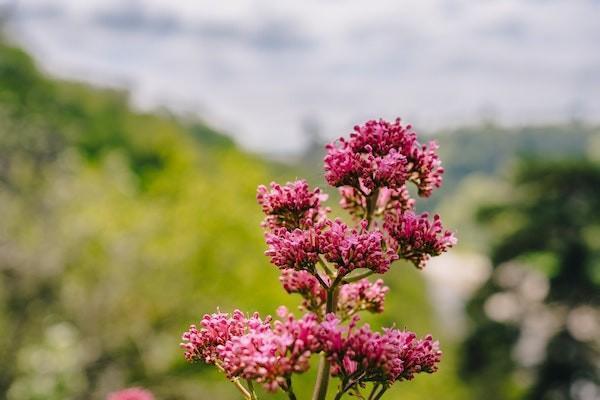
<path id="1" fill-rule="evenodd" d="M 225 313 L 206 314 L 200 321 L 200 329 L 191 325 L 184 332 L 180 344 L 185 350 L 188 361 L 204 361 L 214 364 L 218 361 L 217 347 L 225 344 L 233 337 L 244 335 L 248 330 L 262 331 L 269 328 L 270 317 L 264 321 L 258 313 L 246 318 L 240 310 L 232 315 Z"/>

